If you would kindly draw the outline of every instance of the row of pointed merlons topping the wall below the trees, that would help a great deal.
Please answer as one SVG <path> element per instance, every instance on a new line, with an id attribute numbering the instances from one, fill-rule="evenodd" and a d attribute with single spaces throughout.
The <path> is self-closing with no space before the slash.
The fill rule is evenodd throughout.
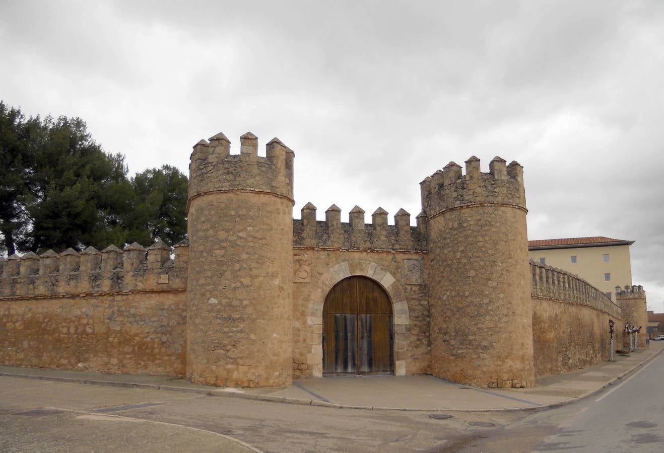
<path id="1" fill-rule="evenodd" d="M 150 247 L 132 243 L 80 253 L 52 250 L 11 255 L 1 262 L 0 298 L 86 295 L 126 291 L 183 291 L 187 283 L 189 243 L 171 247 L 157 241 Z"/>

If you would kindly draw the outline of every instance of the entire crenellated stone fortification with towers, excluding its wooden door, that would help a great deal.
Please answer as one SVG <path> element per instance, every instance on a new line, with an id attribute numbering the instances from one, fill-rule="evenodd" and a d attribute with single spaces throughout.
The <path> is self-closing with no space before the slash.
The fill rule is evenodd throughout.
<path id="1" fill-rule="evenodd" d="M 193 149 L 189 239 L 0 261 L 0 363 L 186 376 L 281 387 L 323 375 L 323 304 L 351 276 L 392 310 L 394 374 L 478 387 L 608 359 L 626 321 L 645 326 L 645 291 L 614 304 L 576 275 L 528 261 L 523 168 L 454 162 L 422 181 L 417 226 L 361 207 L 307 203 L 293 220 L 294 153 L 258 138 L 230 153 L 222 133 Z M 367 217 L 365 219 L 365 217 Z M 639 338 L 643 347 L 645 335 Z"/>

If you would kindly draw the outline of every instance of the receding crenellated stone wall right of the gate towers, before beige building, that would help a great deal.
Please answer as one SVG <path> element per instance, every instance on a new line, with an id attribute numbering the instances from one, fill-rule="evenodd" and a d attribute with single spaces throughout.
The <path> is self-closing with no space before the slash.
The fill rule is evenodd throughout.
<path id="1" fill-rule="evenodd" d="M 531 261 L 535 376 L 563 373 L 608 360 L 609 320 L 614 349 L 622 345 L 622 312 L 610 298 L 560 269 Z"/>

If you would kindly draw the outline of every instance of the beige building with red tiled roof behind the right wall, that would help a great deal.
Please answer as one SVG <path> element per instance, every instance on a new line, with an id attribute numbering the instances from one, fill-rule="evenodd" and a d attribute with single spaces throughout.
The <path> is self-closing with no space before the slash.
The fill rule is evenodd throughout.
<path id="1" fill-rule="evenodd" d="M 631 286 L 629 246 L 604 236 L 528 241 L 530 258 L 578 275 L 616 302 L 616 287 Z"/>

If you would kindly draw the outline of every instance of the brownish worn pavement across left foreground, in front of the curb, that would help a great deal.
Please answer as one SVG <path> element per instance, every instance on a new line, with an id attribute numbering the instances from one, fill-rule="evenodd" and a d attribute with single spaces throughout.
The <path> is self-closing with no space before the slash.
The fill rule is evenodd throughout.
<path id="1" fill-rule="evenodd" d="M 440 451 L 523 416 L 430 414 L 0 377 L 2 452 Z"/>

